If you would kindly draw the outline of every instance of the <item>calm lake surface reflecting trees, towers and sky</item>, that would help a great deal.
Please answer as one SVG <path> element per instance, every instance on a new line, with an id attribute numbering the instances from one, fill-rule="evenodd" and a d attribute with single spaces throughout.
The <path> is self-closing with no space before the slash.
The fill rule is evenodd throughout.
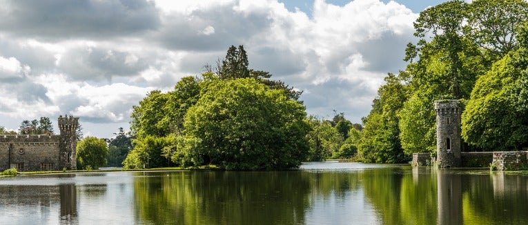
<path id="1" fill-rule="evenodd" d="M 528 224 L 528 173 L 306 163 L 0 179 L 1 224 Z"/>

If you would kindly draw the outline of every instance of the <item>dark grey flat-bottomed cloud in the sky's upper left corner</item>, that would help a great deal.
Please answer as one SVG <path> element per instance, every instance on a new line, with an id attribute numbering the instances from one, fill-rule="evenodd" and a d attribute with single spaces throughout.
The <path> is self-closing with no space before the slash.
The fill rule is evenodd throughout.
<path id="1" fill-rule="evenodd" d="M 4 1 L 0 29 L 38 40 L 96 39 L 155 30 L 159 17 L 151 1 Z"/>

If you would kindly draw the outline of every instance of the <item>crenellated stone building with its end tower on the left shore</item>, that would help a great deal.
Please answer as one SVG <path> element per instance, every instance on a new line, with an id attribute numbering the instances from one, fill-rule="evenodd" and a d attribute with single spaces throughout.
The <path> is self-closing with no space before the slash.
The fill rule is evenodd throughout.
<path id="1" fill-rule="evenodd" d="M 79 117 L 59 116 L 59 135 L 0 135 L 0 170 L 77 169 Z"/>

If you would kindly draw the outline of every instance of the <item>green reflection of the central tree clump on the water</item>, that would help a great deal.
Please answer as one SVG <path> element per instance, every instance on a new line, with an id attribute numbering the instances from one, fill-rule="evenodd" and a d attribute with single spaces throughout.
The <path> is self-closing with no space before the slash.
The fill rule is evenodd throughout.
<path id="1" fill-rule="evenodd" d="M 304 224 L 309 177 L 291 172 L 180 172 L 138 176 L 145 224 Z"/>

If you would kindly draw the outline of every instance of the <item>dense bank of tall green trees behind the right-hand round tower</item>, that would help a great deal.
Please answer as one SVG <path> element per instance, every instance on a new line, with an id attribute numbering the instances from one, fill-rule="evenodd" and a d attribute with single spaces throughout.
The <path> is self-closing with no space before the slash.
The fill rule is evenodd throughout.
<path id="1" fill-rule="evenodd" d="M 364 119 L 359 159 L 404 162 L 411 153 L 436 153 L 438 99 L 469 99 L 462 101 L 466 150 L 526 147 L 527 20 L 522 0 L 448 1 L 420 12 L 407 68 L 386 78 Z"/>

